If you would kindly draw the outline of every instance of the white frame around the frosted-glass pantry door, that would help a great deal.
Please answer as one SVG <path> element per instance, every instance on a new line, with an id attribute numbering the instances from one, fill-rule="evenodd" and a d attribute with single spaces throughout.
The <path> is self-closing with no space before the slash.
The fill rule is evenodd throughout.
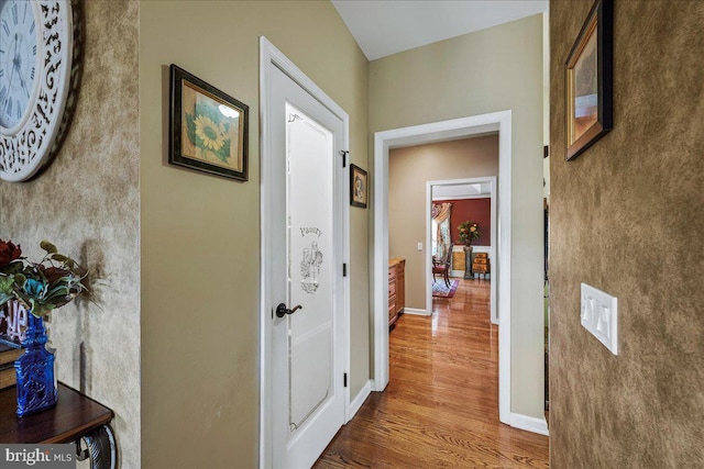
<path id="1" fill-rule="evenodd" d="M 271 183 L 271 165 L 270 161 L 275 155 L 272 155 L 271 132 L 267 115 L 268 105 L 268 83 L 270 71 L 272 67 L 276 67 L 284 74 L 288 75 L 296 83 L 298 83 L 310 96 L 317 99 L 330 112 L 342 120 L 343 135 L 342 147 L 349 148 L 350 142 L 350 118 L 342 108 L 340 108 L 324 91 L 322 91 L 310 78 L 308 78 L 292 60 L 289 60 L 278 48 L 274 46 L 266 37 L 260 37 L 260 468 L 272 467 L 273 464 L 273 409 L 272 399 L 274 399 L 274 390 L 272 389 L 272 311 L 266 311 L 266 298 L 270 294 L 271 269 L 267 265 L 267 245 L 274 239 L 274 233 L 271 230 L 271 214 L 267 210 L 270 204 Z M 349 169 L 345 169 L 345 172 Z M 350 178 L 342 177 L 343 187 L 337 188 L 343 194 L 349 193 Z M 342 259 L 350 265 L 350 205 L 342 203 Z M 342 269 L 342 266 L 340 266 Z M 350 372 L 350 272 L 342 279 L 343 292 L 336 294 L 343 295 L 343 317 L 342 327 L 344 330 L 343 344 L 339 350 L 343 354 L 343 372 Z M 342 379 L 342 377 L 340 377 Z M 344 418 L 343 422 L 350 420 L 350 388 L 343 388 Z"/>

